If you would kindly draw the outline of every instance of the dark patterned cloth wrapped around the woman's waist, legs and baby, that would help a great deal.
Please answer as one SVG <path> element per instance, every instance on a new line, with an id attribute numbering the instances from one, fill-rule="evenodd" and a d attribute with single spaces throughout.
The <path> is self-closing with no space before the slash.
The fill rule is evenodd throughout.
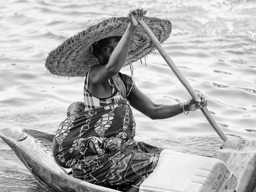
<path id="1" fill-rule="evenodd" d="M 127 99 L 77 113 L 59 126 L 53 157 L 73 177 L 123 190 L 139 187 L 157 166 L 163 148 L 134 140 L 136 123 Z M 87 154 L 92 142 L 97 154 Z"/>

